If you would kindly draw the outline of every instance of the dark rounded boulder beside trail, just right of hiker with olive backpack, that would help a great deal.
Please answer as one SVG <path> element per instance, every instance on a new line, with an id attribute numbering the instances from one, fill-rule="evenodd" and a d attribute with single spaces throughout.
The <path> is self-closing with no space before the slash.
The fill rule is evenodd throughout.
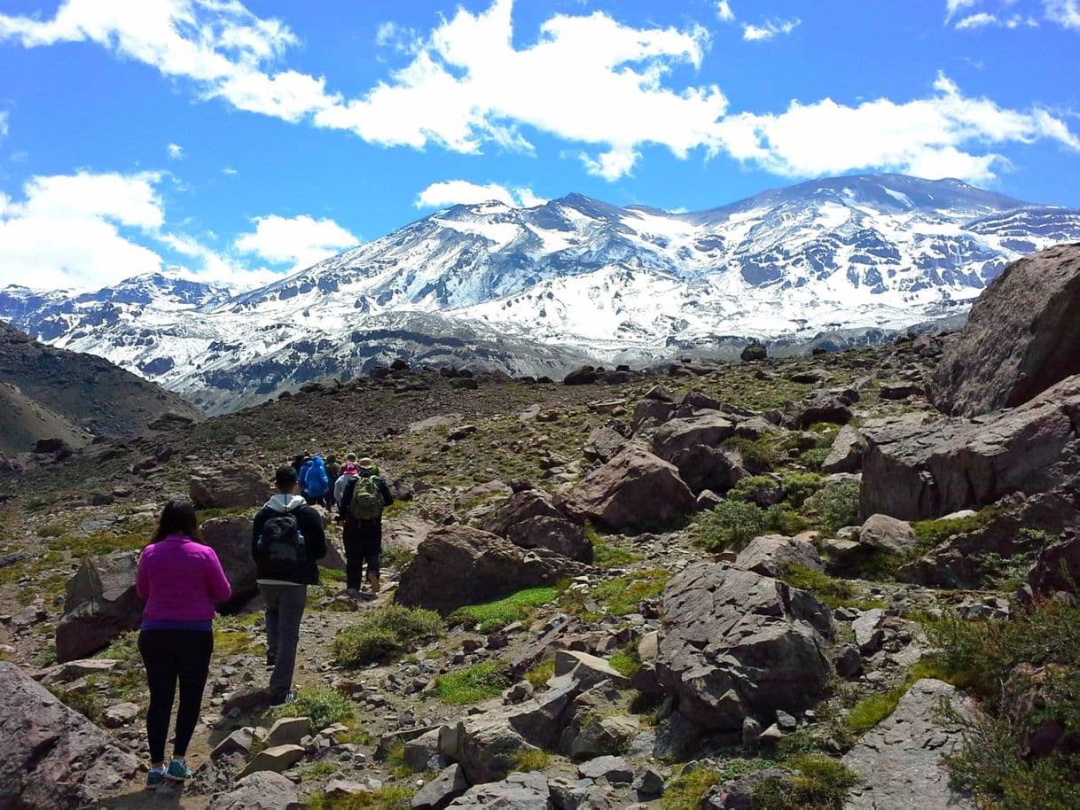
<path id="1" fill-rule="evenodd" d="M 394 599 L 448 613 L 589 570 L 546 549 L 525 550 L 488 531 L 448 526 L 420 543 L 416 557 L 402 571 Z"/>

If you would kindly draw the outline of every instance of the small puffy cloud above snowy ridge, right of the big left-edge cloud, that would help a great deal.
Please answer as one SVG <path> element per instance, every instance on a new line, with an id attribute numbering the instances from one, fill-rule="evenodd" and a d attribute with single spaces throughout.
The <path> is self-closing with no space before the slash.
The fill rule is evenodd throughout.
<path id="1" fill-rule="evenodd" d="M 360 244 L 359 238 L 333 219 L 271 214 L 252 221 L 255 230 L 238 237 L 235 249 L 256 254 L 273 265 L 291 264 L 297 270 Z"/>

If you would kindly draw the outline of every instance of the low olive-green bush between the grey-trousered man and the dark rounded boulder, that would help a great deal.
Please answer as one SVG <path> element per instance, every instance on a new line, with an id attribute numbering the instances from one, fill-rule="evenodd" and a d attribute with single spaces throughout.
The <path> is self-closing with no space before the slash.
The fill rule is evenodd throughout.
<path id="1" fill-rule="evenodd" d="M 334 659 L 343 666 L 389 661 L 419 642 L 441 636 L 444 630 L 434 610 L 400 605 L 367 610 L 356 624 L 334 637 Z"/>

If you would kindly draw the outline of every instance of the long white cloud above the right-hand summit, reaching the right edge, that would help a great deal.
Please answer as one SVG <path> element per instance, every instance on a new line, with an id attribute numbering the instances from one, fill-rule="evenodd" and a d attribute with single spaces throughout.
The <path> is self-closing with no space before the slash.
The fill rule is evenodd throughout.
<path id="1" fill-rule="evenodd" d="M 847 107 L 826 98 L 793 102 L 778 116 L 732 116 L 719 124 L 724 146 L 739 160 L 789 177 L 874 168 L 972 181 L 1008 165 L 1003 156 L 982 151 L 986 145 L 1052 139 L 1080 149 L 1080 139 L 1045 110 L 969 98 L 943 75 L 933 87 L 928 98 L 904 104 L 879 98 Z M 972 148 L 975 153 L 966 151 Z"/>

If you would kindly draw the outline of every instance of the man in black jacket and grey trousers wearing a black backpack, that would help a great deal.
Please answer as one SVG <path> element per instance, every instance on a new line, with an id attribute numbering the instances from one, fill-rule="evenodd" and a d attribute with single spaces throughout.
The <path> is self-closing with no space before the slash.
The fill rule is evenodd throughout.
<path id="1" fill-rule="evenodd" d="M 297 494 L 296 470 L 274 473 L 278 494 L 255 515 L 252 556 L 267 610 L 270 707 L 293 699 L 293 671 L 308 585 L 319 584 L 316 561 L 326 556 L 323 516 Z"/>

